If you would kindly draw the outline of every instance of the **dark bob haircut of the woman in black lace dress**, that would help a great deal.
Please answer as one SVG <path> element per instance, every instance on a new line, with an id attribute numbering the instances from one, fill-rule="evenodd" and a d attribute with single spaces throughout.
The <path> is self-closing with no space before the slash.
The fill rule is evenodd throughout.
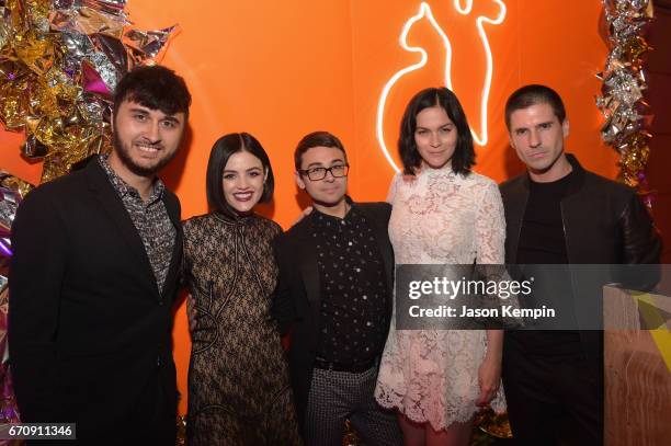
<path id="1" fill-rule="evenodd" d="M 259 203 L 268 203 L 273 199 L 273 191 L 275 190 L 273 168 L 270 164 L 268 153 L 265 153 L 265 150 L 263 150 L 263 147 L 257 138 L 246 133 L 229 134 L 220 137 L 214 146 L 212 146 L 209 152 L 205 190 L 207 192 L 207 202 L 209 205 L 231 218 L 237 218 L 238 213 L 228 204 L 224 196 L 224 169 L 230 157 L 240 151 L 249 152 L 259 158 L 259 160 L 261 160 L 261 165 L 263 165 L 263 170 L 268 172 L 268 176 L 263 183 L 263 193 L 261 194 Z"/>

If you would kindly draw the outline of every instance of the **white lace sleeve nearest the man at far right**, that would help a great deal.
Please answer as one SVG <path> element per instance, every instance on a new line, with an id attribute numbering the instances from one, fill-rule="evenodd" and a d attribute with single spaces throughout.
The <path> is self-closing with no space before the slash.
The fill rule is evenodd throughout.
<path id="1" fill-rule="evenodd" d="M 476 262 L 502 264 L 504 262 L 505 217 L 501 193 L 493 181 L 488 181 L 482 191 L 476 219 Z"/>

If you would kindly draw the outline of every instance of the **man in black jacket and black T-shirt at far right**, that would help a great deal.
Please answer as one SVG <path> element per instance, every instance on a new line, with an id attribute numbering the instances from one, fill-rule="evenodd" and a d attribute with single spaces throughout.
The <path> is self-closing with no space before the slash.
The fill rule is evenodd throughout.
<path id="1" fill-rule="evenodd" d="M 501 184 L 507 263 L 659 263 L 661 243 L 635 191 L 583 170 L 565 153 L 569 123 L 554 90 L 515 91 L 505 124 L 527 167 Z M 567 299 L 584 295 L 584 284 L 567 284 Z M 518 444 L 603 444 L 602 350 L 598 330 L 505 334 L 502 377 Z"/>

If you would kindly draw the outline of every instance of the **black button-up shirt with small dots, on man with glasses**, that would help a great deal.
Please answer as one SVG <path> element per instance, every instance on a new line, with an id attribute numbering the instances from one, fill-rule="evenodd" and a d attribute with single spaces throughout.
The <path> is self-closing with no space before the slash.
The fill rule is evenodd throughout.
<path id="1" fill-rule="evenodd" d="M 321 287 L 317 356 L 344 365 L 372 362 L 382 354 L 389 323 L 373 227 L 354 207 L 344 218 L 318 210 L 310 218 Z"/>

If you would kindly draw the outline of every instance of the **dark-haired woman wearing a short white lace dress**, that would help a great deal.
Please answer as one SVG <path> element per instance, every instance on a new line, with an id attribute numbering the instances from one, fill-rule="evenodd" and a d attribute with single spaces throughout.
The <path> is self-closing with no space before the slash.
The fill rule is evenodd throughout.
<path id="1" fill-rule="evenodd" d="M 470 171 L 473 137 L 454 93 L 419 92 L 399 138 L 403 172 L 388 202 L 397 264 L 502 264 L 505 221 L 497 184 Z M 406 445 L 467 445 L 478 407 L 504 410 L 500 330 L 396 330 L 375 390 L 398 410 Z"/>

